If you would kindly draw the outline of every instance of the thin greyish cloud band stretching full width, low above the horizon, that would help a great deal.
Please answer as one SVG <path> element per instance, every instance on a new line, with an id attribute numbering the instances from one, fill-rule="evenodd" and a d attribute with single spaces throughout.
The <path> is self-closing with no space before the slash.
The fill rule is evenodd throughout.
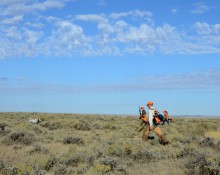
<path id="1" fill-rule="evenodd" d="M 20 79 L 21 81 L 22 79 Z M 23 79 L 22 81 L 26 80 Z M 0 83 L 5 83 L 8 78 L 0 78 Z M 62 93 L 100 93 L 100 92 L 129 92 L 147 90 L 173 90 L 173 89 L 212 89 L 220 86 L 220 70 L 211 69 L 201 72 L 182 74 L 146 75 L 134 78 L 133 82 L 97 84 L 85 86 L 71 86 L 58 84 L 23 84 L 17 82 L 0 86 L 0 93 L 20 92 L 62 92 Z"/>

